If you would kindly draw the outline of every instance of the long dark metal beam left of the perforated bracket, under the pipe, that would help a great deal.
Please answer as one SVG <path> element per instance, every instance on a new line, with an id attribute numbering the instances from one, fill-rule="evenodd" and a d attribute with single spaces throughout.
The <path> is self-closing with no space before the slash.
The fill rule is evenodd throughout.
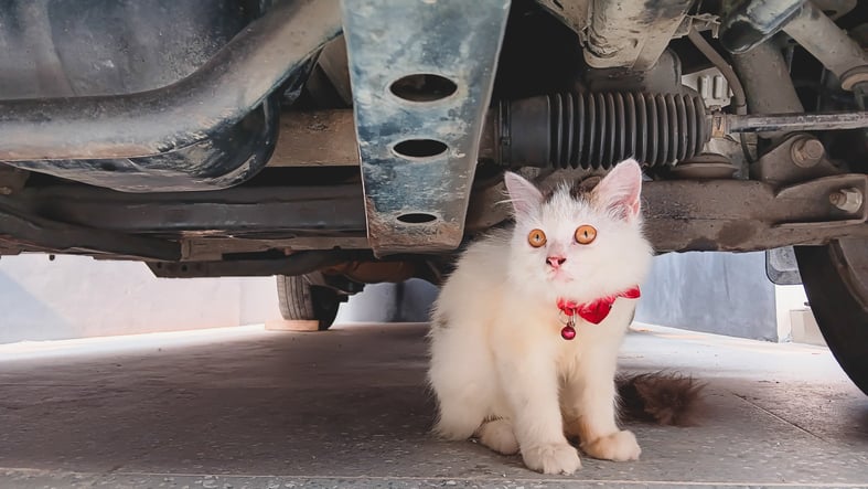
<path id="1" fill-rule="evenodd" d="M 17 201 L 44 219 L 115 232 L 287 238 L 365 231 L 357 184 L 153 194 L 57 187 L 28 189 Z"/>

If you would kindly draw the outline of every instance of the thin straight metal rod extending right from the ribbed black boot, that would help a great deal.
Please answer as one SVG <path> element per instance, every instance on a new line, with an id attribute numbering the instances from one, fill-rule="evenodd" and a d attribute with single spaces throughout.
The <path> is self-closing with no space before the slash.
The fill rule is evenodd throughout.
<path id="1" fill-rule="evenodd" d="M 728 132 L 840 130 L 868 127 L 868 111 L 818 114 L 715 114 L 712 127 Z M 720 120 L 724 118 L 725 120 Z M 722 124 L 721 124 L 722 123 Z"/>

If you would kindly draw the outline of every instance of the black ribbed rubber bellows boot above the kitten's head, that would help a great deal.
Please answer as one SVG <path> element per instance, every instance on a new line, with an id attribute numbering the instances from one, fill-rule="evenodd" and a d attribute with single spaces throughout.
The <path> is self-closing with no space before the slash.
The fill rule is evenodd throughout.
<path id="1" fill-rule="evenodd" d="M 611 168 L 626 158 L 674 164 L 710 137 L 694 94 L 560 93 L 497 107 L 499 156 L 507 167 Z"/>

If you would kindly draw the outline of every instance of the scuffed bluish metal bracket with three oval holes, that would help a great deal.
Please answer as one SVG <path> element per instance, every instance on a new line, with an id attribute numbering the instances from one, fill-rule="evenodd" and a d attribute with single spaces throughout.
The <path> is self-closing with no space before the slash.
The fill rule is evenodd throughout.
<path id="1" fill-rule="evenodd" d="M 508 0 L 344 0 L 371 247 L 461 243 Z"/>

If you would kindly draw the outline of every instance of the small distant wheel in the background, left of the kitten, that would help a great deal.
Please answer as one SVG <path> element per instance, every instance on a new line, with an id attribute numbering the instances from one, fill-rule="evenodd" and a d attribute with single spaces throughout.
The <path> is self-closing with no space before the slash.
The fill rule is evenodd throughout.
<path id="1" fill-rule="evenodd" d="M 283 319 L 319 321 L 320 331 L 325 331 L 334 323 L 341 306 L 337 291 L 311 285 L 311 277 L 307 275 L 278 275 L 277 297 Z"/>

